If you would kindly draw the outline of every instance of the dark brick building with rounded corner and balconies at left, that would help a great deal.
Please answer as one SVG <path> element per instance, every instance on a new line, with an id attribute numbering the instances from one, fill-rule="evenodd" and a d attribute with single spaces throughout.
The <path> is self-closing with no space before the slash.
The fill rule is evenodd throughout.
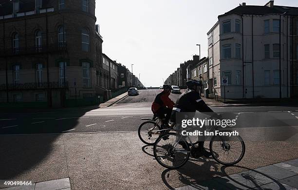
<path id="1" fill-rule="evenodd" d="M 0 0 L 0 102 L 103 94 L 95 0 Z"/>

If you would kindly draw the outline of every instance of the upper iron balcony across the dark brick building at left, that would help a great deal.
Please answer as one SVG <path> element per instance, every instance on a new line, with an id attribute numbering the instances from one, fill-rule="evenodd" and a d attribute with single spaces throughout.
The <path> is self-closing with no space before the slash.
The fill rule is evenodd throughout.
<path id="1" fill-rule="evenodd" d="M 31 46 L 31 47 L 15 47 L 9 49 L 0 49 L 0 57 L 12 57 L 21 55 L 45 54 L 67 50 L 67 44 L 52 43 L 49 45 Z"/>

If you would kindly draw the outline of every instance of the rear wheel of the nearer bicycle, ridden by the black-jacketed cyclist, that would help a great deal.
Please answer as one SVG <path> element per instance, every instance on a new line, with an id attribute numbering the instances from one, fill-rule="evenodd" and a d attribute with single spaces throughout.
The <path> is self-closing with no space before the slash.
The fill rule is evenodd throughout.
<path id="1" fill-rule="evenodd" d="M 154 157 L 163 167 L 179 168 L 189 159 L 189 145 L 183 139 L 178 144 L 180 136 L 177 133 L 166 133 L 156 140 L 153 146 Z"/>

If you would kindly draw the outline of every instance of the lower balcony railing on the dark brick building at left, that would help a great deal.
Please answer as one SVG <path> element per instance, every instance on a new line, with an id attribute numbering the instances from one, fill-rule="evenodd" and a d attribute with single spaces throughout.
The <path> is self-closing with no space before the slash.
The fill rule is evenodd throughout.
<path id="1" fill-rule="evenodd" d="M 48 89 L 48 84 L 50 89 L 62 89 L 64 88 L 63 82 L 29 82 L 29 83 L 17 83 L 8 84 L 8 91 L 13 90 L 44 90 Z M 65 82 L 65 88 L 68 89 L 68 82 Z M 7 90 L 6 84 L 0 85 L 0 91 Z"/>

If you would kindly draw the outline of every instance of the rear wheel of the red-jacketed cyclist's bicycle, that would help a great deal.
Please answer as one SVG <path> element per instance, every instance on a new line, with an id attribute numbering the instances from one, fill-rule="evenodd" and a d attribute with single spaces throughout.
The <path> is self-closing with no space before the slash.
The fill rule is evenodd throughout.
<path id="1" fill-rule="evenodd" d="M 148 145 L 153 145 L 159 137 L 160 127 L 154 121 L 145 121 L 138 129 L 138 135 L 141 141 Z"/>

